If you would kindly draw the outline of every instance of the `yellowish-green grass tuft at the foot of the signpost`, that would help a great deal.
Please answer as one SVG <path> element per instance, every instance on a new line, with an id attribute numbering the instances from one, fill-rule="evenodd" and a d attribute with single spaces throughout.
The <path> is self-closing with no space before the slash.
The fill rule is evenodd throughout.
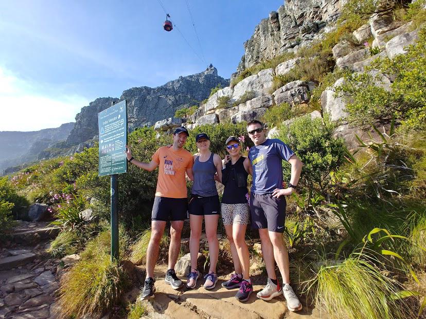
<path id="1" fill-rule="evenodd" d="M 79 261 L 61 279 L 59 309 L 62 318 L 100 315 L 112 309 L 128 286 L 122 268 L 107 254 Z"/>

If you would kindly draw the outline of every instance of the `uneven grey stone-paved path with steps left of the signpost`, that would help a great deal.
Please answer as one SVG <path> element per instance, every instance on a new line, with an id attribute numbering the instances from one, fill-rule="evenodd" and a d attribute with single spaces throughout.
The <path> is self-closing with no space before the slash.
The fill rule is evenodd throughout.
<path id="1" fill-rule="evenodd" d="M 47 223 L 21 222 L 0 250 L 0 319 L 56 318 L 61 259 L 48 258 L 48 239 L 58 230 Z"/>

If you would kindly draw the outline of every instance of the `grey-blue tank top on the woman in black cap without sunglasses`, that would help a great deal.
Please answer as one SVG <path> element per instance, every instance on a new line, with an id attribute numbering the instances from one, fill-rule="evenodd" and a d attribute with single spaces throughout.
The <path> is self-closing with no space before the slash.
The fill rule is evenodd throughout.
<path id="1" fill-rule="evenodd" d="M 205 162 L 200 162 L 200 156 L 197 156 L 192 166 L 194 173 L 194 183 L 192 184 L 192 194 L 199 196 L 215 196 L 218 195 L 214 176 L 216 174 L 216 166 L 213 162 L 213 153 Z"/>

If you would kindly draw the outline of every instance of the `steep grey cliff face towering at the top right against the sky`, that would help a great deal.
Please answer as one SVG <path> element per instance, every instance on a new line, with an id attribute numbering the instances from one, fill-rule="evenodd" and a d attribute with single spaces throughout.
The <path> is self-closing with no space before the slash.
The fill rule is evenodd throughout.
<path id="1" fill-rule="evenodd" d="M 244 43 L 244 55 L 232 78 L 262 60 L 308 45 L 336 20 L 341 6 L 340 0 L 287 0 L 259 23 Z"/>

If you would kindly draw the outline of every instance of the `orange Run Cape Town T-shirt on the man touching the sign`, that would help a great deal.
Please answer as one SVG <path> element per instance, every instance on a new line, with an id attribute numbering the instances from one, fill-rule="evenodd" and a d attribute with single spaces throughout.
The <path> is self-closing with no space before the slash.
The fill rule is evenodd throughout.
<path id="1" fill-rule="evenodd" d="M 158 180 L 155 196 L 170 198 L 186 198 L 185 172 L 192 168 L 192 155 L 186 149 L 173 151 L 172 147 L 163 146 L 152 156 L 158 165 Z"/>

